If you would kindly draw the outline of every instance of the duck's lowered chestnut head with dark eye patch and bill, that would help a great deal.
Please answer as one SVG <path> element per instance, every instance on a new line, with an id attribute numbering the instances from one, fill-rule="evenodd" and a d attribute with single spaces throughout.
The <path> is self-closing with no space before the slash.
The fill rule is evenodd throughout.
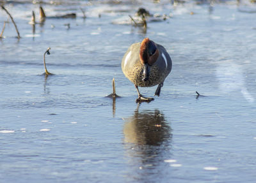
<path id="1" fill-rule="evenodd" d="M 150 67 L 154 65 L 159 56 L 156 44 L 149 38 L 145 38 L 140 45 L 140 61 L 143 64 L 143 81 L 147 81 Z"/>

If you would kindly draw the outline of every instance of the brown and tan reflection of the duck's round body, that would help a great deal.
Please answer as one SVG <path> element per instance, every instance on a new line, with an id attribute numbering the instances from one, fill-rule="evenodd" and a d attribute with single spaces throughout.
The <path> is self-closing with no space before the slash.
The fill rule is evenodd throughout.
<path id="1" fill-rule="evenodd" d="M 166 123 L 159 110 L 143 111 L 138 108 L 131 118 L 125 119 L 125 142 L 138 145 L 162 145 L 172 137 L 171 127 Z"/>

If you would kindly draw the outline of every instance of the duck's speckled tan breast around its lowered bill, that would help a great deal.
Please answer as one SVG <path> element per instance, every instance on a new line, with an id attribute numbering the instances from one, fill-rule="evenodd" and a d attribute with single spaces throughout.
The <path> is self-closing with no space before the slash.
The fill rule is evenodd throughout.
<path id="1" fill-rule="evenodd" d="M 148 81 L 143 81 L 143 65 L 141 65 L 140 62 L 136 63 L 132 70 L 128 71 L 125 73 L 125 76 L 136 86 L 140 87 L 150 87 L 150 86 L 155 86 L 161 82 L 164 81 L 166 77 L 165 72 L 159 72 L 159 68 L 157 65 L 153 65 L 150 68 L 150 74 L 148 77 Z"/>

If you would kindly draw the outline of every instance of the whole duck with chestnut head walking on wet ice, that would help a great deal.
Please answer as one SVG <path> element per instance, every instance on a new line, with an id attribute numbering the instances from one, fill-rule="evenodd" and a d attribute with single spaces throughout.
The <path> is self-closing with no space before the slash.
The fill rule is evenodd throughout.
<path id="1" fill-rule="evenodd" d="M 132 44 L 125 52 L 121 63 L 122 72 L 138 92 L 136 102 L 150 102 L 151 97 L 143 97 L 140 87 L 157 86 L 155 96 L 160 95 L 164 80 L 172 70 L 172 59 L 166 49 L 149 38 Z"/>

